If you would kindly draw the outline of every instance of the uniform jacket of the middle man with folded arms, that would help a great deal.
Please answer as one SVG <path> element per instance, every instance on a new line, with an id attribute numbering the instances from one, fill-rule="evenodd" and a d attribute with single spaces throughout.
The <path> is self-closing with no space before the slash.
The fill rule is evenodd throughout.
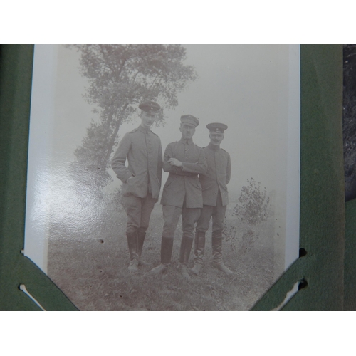
<path id="1" fill-rule="evenodd" d="M 171 166 L 169 158 L 177 158 L 183 167 Z M 170 143 L 164 152 L 163 169 L 169 172 L 169 177 L 164 184 L 162 205 L 182 207 L 185 199 L 187 208 L 203 207 L 198 174 L 206 172 L 206 159 L 201 147 L 192 139 Z"/>

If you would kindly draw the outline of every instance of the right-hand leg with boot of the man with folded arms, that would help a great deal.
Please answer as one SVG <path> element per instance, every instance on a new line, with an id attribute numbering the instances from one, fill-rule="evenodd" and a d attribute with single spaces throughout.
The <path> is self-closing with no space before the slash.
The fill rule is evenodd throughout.
<path id="1" fill-rule="evenodd" d="M 194 227 L 201 214 L 200 208 L 182 208 L 182 241 L 179 251 L 179 271 L 185 278 L 190 278 L 187 271 L 190 251 L 192 250 Z"/>

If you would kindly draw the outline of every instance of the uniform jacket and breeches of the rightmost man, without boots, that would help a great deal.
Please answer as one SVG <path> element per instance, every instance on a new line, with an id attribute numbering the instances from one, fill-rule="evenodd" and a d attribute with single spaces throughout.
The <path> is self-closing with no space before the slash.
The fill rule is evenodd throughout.
<path id="1" fill-rule="evenodd" d="M 231 177 L 231 159 L 228 152 L 211 144 L 204 147 L 204 153 L 208 169 L 199 176 L 204 206 L 197 222 L 197 231 L 206 232 L 212 216 L 213 234 L 220 235 L 224 230 L 226 206 L 229 204 L 226 184 Z"/>

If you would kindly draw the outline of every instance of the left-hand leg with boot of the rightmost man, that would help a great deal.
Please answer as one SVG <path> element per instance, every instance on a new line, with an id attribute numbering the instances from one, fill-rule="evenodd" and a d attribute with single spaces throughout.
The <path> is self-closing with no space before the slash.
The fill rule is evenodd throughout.
<path id="1" fill-rule="evenodd" d="M 203 209 L 201 209 L 200 218 L 197 221 L 197 229 L 195 229 L 194 236 L 194 267 L 192 268 L 194 274 L 199 274 L 203 266 L 205 234 L 209 229 L 213 207 L 214 206 L 204 205 Z"/>

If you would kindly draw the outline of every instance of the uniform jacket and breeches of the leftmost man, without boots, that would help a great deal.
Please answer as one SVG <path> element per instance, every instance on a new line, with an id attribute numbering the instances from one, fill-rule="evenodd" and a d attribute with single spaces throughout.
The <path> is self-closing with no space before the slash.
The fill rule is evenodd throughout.
<path id="1" fill-rule="evenodd" d="M 135 234 L 138 229 L 145 232 L 161 188 L 161 140 L 150 129 L 137 127 L 122 137 L 111 167 L 122 181 L 127 234 Z M 132 179 L 127 182 L 130 177 Z"/>

